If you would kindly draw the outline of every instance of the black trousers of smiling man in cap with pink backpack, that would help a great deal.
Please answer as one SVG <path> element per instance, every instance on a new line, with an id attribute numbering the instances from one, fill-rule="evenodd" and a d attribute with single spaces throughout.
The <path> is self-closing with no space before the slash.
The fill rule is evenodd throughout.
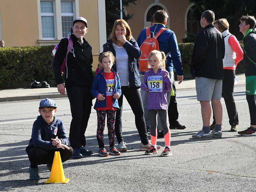
<path id="1" fill-rule="evenodd" d="M 92 108 L 90 88 L 91 87 L 79 86 L 70 86 L 66 88 L 72 114 L 69 141 L 71 147 L 74 149 L 86 145 L 84 133 Z"/>

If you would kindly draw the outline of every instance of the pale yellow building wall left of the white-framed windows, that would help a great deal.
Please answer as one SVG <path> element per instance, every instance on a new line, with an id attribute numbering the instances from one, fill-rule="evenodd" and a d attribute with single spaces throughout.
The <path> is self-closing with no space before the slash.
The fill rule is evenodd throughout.
<path id="1" fill-rule="evenodd" d="M 6 47 L 39 45 L 36 0 L 1 0 L 2 38 Z"/>

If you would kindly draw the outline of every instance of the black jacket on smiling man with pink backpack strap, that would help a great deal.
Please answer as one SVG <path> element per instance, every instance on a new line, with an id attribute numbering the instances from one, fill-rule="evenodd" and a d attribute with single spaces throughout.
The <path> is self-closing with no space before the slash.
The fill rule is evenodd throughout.
<path id="1" fill-rule="evenodd" d="M 75 57 L 71 52 L 68 53 L 68 78 L 66 78 L 67 70 L 65 69 L 65 87 L 68 86 L 92 86 L 92 47 L 83 38 L 83 48 L 78 42 L 74 34 L 71 34 Z M 53 73 L 57 84 L 61 84 L 60 66 L 66 56 L 68 49 L 68 39 L 61 39 L 58 50 L 53 59 Z"/>

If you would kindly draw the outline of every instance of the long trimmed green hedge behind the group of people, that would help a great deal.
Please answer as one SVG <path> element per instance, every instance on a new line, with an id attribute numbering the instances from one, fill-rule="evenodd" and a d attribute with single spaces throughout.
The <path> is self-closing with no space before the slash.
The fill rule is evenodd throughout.
<path id="1" fill-rule="evenodd" d="M 189 73 L 193 43 L 179 44 L 184 78 Z M 47 81 L 55 86 L 52 70 L 52 49 L 54 45 L 0 48 L 0 89 L 27 87 L 32 81 Z M 244 73 L 243 61 L 236 73 Z M 25 82 L 25 83 L 24 83 Z"/>

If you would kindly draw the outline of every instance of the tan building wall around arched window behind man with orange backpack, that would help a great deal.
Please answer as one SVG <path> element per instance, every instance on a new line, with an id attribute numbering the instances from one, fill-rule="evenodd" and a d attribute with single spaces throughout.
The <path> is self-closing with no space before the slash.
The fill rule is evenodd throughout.
<path id="1" fill-rule="evenodd" d="M 154 0 L 139 0 L 136 5 L 130 4 L 125 7 L 126 11 L 133 17 L 129 20 L 129 26 L 132 28 L 132 34 L 137 39 L 140 31 L 144 28 L 144 14 L 150 4 L 155 3 Z M 188 0 L 159 0 L 168 12 L 170 21 L 170 29 L 174 31 L 178 43 L 182 43 L 181 38 L 185 37 L 185 12 L 189 6 Z"/>

